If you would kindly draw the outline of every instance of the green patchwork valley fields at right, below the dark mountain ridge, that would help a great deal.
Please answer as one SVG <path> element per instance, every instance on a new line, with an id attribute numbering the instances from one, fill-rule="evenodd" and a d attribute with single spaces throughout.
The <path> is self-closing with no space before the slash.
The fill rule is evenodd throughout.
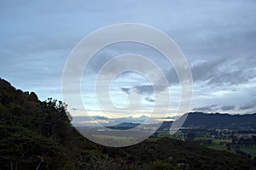
<path id="1" fill-rule="evenodd" d="M 170 135 L 168 131 L 159 131 L 154 137 L 168 136 L 173 139 L 190 141 L 196 144 L 205 145 L 213 150 L 224 150 L 256 159 L 256 132 L 243 130 L 241 133 L 232 129 L 185 129 Z"/>

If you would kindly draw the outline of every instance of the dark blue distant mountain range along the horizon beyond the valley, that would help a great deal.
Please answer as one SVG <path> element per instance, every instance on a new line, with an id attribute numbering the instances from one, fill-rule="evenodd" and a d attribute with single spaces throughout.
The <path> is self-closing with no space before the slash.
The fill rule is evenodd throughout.
<path id="1" fill-rule="evenodd" d="M 121 122 L 109 128 L 129 129 L 137 127 L 140 123 Z M 148 125 L 149 127 L 150 125 Z M 172 122 L 163 122 L 159 128 L 168 129 L 172 126 Z M 188 113 L 183 127 L 201 127 L 201 128 L 219 128 L 219 129 L 256 129 L 256 113 L 247 115 L 230 115 L 220 113 L 203 113 L 191 112 Z"/>

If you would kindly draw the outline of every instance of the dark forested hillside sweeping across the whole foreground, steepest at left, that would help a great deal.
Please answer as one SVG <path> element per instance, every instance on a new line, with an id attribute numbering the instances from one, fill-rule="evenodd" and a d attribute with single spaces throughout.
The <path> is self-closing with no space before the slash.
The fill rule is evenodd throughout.
<path id="1" fill-rule="evenodd" d="M 0 79 L 0 169 L 256 168 L 247 158 L 167 138 L 103 147 L 71 126 L 66 107 Z"/>

